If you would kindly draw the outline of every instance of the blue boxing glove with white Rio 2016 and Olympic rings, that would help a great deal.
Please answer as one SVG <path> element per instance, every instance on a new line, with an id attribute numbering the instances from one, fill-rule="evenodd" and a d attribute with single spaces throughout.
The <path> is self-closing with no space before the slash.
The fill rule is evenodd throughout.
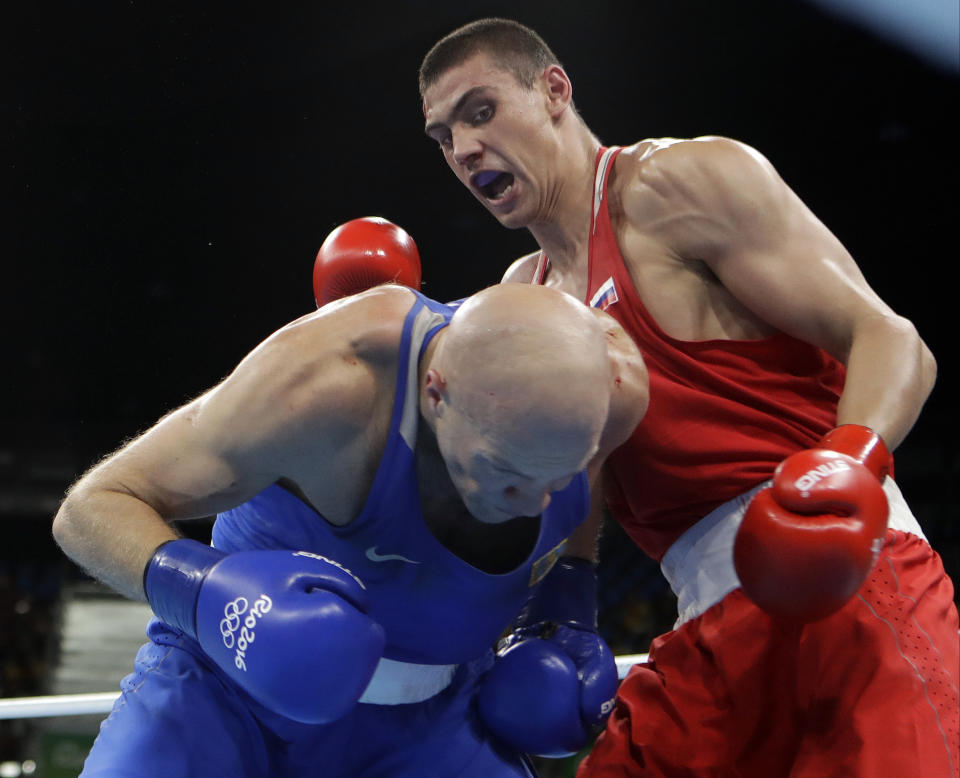
<path id="1" fill-rule="evenodd" d="M 148 563 L 144 591 L 251 697 L 305 724 L 348 713 L 383 653 L 360 579 L 305 551 L 225 554 L 174 540 Z"/>

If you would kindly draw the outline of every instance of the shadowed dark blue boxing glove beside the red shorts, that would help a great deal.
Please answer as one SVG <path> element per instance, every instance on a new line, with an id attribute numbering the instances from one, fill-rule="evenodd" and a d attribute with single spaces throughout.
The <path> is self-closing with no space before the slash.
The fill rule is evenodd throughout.
<path id="1" fill-rule="evenodd" d="M 568 756 L 603 727 L 618 684 L 613 652 L 597 634 L 594 565 L 563 557 L 500 642 L 480 715 L 520 751 Z"/>

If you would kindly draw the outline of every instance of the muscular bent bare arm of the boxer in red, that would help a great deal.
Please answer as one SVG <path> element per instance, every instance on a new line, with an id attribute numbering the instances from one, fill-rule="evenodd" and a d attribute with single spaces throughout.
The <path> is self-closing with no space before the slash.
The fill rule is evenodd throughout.
<path id="1" fill-rule="evenodd" d="M 837 424 L 871 427 L 897 446 L 936 376 L 914 326 L 870 288 L 840 241 L 755 150 L 704 138 L 656 156 L 648 172 L 667 214 L 668 245 L 703 261 L 768 324 L 843 362 Z M 625 205 L 629 214 L 630 198 Z"/>

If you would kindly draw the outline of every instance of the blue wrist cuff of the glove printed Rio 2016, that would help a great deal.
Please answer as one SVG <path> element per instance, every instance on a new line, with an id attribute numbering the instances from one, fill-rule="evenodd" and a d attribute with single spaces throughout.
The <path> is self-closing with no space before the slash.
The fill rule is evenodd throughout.
<path id="1" fill-rule="evenodd" d="M 222 551 L 182 538 L 160 545 L 143 571 L 143 591 L 153 612 L 172 627 L 197 636 L 197 597 Z"/>

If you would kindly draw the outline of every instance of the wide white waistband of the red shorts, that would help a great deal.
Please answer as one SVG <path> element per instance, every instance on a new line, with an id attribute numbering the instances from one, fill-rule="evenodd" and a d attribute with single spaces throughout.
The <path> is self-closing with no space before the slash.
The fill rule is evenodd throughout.
<path id="1" fill-rule="evenodd" d="M 734 589 L 740 579 L 733 567 L 733 542 L 753 495 L 767 483 L 751 489 L 711 511 L 684 532 L 660 563 L 663 575 L 677 595 L 674 629 L 703 614 Z M 883 483 L 890 515 L 887 528 L 910 532 L 926 540 L 920 524 L 892 478 Z"/>

